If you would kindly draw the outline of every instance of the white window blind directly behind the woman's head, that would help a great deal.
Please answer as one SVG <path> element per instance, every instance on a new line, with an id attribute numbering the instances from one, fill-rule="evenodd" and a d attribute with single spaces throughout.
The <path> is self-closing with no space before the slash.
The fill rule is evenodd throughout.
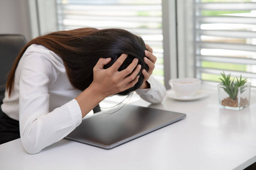
<path id="1" fill-rule="evenodd" d="M 58 30 L 122 28 L 142 37 L 158 58 L 154 76 L 163 77 L 161 0 L 56 0 Z"/>

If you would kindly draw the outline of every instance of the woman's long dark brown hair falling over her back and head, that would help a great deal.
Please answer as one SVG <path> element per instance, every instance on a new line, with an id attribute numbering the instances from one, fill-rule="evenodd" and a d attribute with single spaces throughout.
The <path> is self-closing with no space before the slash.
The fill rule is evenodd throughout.
<path id="1" fill-rule="evenodd" d="M 28 46 L 40 44 L 56 53 L 63 59 L 68 79 L 72 86 L 84 91 L 93 81 L 93 67 L 98 59 L 111 57 L 112 61 L 105 65 L 108 68 L 113 65 L 122 53 L 128 54 L 119 71 L 126 69 L 127 66 L 138 58 L 138 64 L 142 69 L 148 70 L 144 63 L 144 50 L 146 46 L 141 37 L 134 35 L 123 29 L 95 29 L 80 28 L 70 31 L 57 31 L 44 36 L 37 37 L 20 51 L 11 68 L 9 78 L 7 79 L 6 89 L 9 90 L 9 96 L 14 87 L 15 71 L 18 67 L 20 58 Z M 143 83 L 143 74 L 139 73 L 139 81 L 134 87 L 120 92 L 119 95 L 127 95 L 129 92 L 137 90 Z"/>

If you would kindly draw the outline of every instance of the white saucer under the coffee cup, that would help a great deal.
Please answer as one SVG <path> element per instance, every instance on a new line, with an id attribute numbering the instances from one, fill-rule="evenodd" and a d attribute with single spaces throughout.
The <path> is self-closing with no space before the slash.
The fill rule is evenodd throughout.
<path id="1" fill-rule="evenodd" d="M 167 97 L 170 97 L 171 99 L 187 101 L 187 100 L 196 100 L 196 99 L 200 99 L 200 98 L 203 98 L 205 96 L 208 96 L 209 92 L 206 91 L 206 90 L 199 90 L 193 96 L 181 97 L 181 96 L 178 96 L 174 90 L 167 90 L 166 94 L 167 94 Z"/>

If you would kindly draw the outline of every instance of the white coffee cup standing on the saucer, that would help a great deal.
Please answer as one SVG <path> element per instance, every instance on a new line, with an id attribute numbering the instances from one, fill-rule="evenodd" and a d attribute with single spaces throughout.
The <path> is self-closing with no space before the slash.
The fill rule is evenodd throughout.
<path id="1" fill-rule="evenodd" d="M 196 94 L 201 86 L 201 80 L 197 78 L 178 78 L 171 79 L 169 84 L 178 96 L 188 97 Z"/>

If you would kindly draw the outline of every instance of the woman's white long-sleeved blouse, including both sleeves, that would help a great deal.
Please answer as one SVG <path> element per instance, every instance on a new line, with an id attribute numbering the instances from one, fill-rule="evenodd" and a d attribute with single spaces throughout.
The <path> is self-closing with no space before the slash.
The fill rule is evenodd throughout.
<path id="1" fill-rule="evenodd" d="M 166 89 L 152 76 L 151 88 L 137 90 L 142 99 L 160 103 Z M 66 137 L 81 124 L 82 114 L 75 97 L 81 93 L 67 77 L 63 60 L 42 45 L 28 47 L 15 72 L 11 96 L 5 92 L 1 105 L 7 116 L 19 121 L 25 150 L 36 154 Z"/>

